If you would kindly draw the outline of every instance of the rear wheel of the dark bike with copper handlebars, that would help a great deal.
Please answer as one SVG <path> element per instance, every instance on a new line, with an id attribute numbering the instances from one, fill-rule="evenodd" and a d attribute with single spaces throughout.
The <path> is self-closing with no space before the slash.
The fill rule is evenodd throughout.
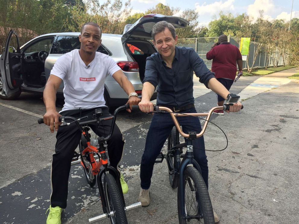
<path id="1" fill-rule="evenodd" d="M 168 137 L 168 142 L 167 142 L 167 150 L 170 151 L 170 149 L 178 144 L 177 142 L 177 130 L 175 127 L 173 127 L 171 134 Z M 175 173 L 175 170 L 178 170 L 178 164 L 177 164 L 177 156 L 179 155 L 178 150 L 172 151 L 168 153 L 169 157 L 169 163 L 170 163 L 170 168 L 172 169 L 172 173 L 168 172 L 169 175 L 169 183 L 170 186 L 175 189 L 178 187 L 178 173 Z"/>

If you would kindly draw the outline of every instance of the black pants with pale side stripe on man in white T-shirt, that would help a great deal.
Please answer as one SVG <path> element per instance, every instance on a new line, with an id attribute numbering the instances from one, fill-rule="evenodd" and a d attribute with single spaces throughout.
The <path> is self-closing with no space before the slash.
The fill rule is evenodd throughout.
<path id="1" fill-rule="evenodd" d="M 103 116 L 109 117 L 109 110 L 107 107 L 102 107 Z M 93 115 L 94 109 L 78 109 L 66 110 L 60 113 L 63 116 L 80 118 L 87 115 Z M 85 120 L 83 120 L 85 121 Z M 108 136 L 112 120 L 103 121 L 100 127 L 96 124 L 91 124 L 90 128 L 98 136 Z M 59 206 L 66 208 L 68 198 L 68 178 L 71 170 L 71 160 L 74 156 L 74 151 L 79 145 L 81 132 L 75 123 L 71 125 L 60 126 L 56 134 L 55 154 L 51 165 L 51 188 L 52 193 L 50 197 L 51 206 Z M 124 151 L 124 138 L 115 125 L 112 138 L 107 141 L 108 155 L 110 165 L 114 168 L 118 167 L 123 151 Z"/>

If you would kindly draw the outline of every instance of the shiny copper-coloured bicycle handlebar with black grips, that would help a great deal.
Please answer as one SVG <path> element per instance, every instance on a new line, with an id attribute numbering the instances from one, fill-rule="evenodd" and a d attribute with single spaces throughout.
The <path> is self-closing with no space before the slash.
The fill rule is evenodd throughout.
<path id="1" fill-rule="evenodd" d="M 206 121 L 203 124 L 203 128 L 201 130 L 200 133 L 196 134 L 196 137 L 199 138 L 203 135 L 203 133 L 206 131 L 206 127 L 208 125 L 208 122 L 210 120 L 210 117 L 212 115 L 212 112 L 214 110 L 229 110 L 229 106 L 231 106 L 232 104 L 224 104 L 223 106 L 218 106 L 218 107 L 213 107 L 212 109 L 209 110 L 208 113 L 178 113 L 178 112 L 173 112 L 171 109 L 169 109 L 168 107 L 160 107 L 160 106 L 154 106 L 154 110 L 156 111 L 166 111 L 169 112 L 170 116 L 172 117 L 173 122 L 175 123 L 175 127 L 178 129 L 178 132 L 184 137 L 184 138 L 189 138 L 189 134 L 186 134 L 183 132 L 183 130 L 181 129 L 180 124 L 178 123 L 178 120 L 176 117 L 183 117 L 183 116 L 195 116 L 195 117 L 206 117 Z M 241 109 L 243 109 L 243 105 L 241 107 Z M 133 105 L 132 106 L 132 110 L 140 110 L 138 105 Z M 160 111 L 161 112 L 161 111 Z"/>

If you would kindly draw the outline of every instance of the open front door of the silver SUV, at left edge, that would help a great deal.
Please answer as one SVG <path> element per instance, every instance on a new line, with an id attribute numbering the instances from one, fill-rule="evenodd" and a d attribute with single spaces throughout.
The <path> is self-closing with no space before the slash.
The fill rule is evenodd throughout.
<path id="1" fill-rule="evenodd" d="M 16 37 L 16 50 L 9 46 L 13 34 Z M 14 30 L 10 30 L 0 58 L 0 98 L 2 99 L 12 100 L 20 95 L 20 86 L 23 84 L 21 55 L 19 37 Z"/>

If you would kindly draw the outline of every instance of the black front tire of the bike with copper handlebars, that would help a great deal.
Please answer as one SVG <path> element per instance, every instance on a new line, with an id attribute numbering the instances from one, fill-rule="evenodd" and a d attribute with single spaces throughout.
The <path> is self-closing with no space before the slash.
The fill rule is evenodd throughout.
<path id="1" fill-rule="evenodd" d="M 196 197 L 199 198 L 199 200 L 195 202 L 197 204 L 197 206 L 200 206 L 200 210 L 203 216 L 203 219 L 197 220 L 197 219 L 191 219 L 191 222 L 188 223 L 204 223 L 204 224 L 214 224 L 214 213 L 213 213 L 213 208 L 212 208 L 212 203 L 211 203 L 211 199 L 209 196 L 209 192 L 206 188 L 206 184 L 202 178 L 202 176 L 200 175 L 200 173 L 198 172 L 197 169 L 195 169 L 193 166 L 187 166 L 185 171 L 184 171 L 184 189 L 180 189 L 180 186 L 178 186 L 178 218 L 179 218 L 179 224 L 186 224 L 187 223 L 187 219 L 184 219 L 185 217 L 182 217 L 181 214 L 181 190 L 184 191 L 185 194 L 185 202 L 184 202 L 184 210 L 187 211 L 188 213 L 188 208 L 186 208 L 186 200 L 187 196 L 186 196 L 186 183 L 187 183 L 187 179 L 190 178 L 192 179 L 193 183 L 194 183 L 194 188 L 195 188 L 195 192 L 196 192 Z M 194 215 L 194 214 L 193 214 Z M 188 216 L 188 214 L 187 214 Z M 194 222 L 192 222 L 194 220 Z M 197 222 L 198 221 L 198 222 Z M 199 222 L 199 221 L 203 221 L 203 222 Z"/>

